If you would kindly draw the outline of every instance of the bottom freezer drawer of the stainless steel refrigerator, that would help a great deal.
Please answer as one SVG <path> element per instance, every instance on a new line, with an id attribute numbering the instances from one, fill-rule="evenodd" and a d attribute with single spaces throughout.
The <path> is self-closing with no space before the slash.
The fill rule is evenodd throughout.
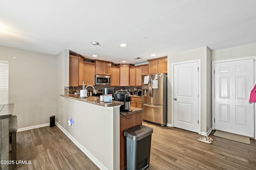
<path id="1" fill-rule="evenodd" d="M 160 124 L 161 126 L 166 126 L 166 115 L 164 114 L 163 105 L 152 105 L 147 103 L 142 103 L 142 119 L 144 121 L 150 121 L 152 123 Z"/>

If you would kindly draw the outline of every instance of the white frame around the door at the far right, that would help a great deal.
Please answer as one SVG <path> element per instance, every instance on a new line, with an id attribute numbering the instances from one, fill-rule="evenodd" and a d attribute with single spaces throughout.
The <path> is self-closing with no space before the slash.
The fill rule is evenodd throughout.
<path id="1" fill-rule="evenodd" d="M 222 62 L 229 62 L 229 61 L 239 61 L 239 60 L 245 60 L 245 59 L 254 59 L 254 84 L 256 83 L 256 56 L 251 57 L 240 57 L 240 58 L 234 58 L 234 59 L 224 59 L 224 60 L 218 60 L 218 61 L 212 61 L 212 130 L 215 130 L 215 101 L 214 101 L 214 94 L 215 94 L 215 82 L 214 82 L 214 65 L 215 63 L 222 63 Z M 252 87 L 253 88 L 253 87 Z M 249 101 L 248 101 L 249 102 Z M 254 139 L 256 139 L 256 107 L 255 103 L 251 104 L 254 105 Z"/>

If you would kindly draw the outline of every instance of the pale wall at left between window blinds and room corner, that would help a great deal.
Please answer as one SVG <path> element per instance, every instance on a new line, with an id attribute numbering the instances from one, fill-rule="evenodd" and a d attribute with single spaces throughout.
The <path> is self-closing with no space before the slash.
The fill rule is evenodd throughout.
<path id="1" fill-rule="evenodd" d="M 0 60 L 9 61 L 9 103 L 18 128 L 49 123 L 56 114 L 56 55 L 0 47 Z"/>

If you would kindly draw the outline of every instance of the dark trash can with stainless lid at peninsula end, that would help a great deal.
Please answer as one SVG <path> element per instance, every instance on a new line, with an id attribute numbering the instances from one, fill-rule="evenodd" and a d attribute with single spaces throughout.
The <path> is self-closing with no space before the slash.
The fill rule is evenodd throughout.
<path id="1" fill-rule="evenodd" d="M 124 130 L 127 170 L 148 170 L 153 129 L 138 125 Z"/>

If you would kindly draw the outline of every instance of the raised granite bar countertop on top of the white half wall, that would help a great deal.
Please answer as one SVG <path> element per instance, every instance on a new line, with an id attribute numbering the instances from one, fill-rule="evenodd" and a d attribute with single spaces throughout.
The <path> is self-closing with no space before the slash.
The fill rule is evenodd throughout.
<path id="1" fill-rule="evenodd" d="M 103 107 L 112 107 L 112 106 L 119 106 L 119 105 L 123 105 L 124 102 L 122 101 L 112 101 L 112 102 L 104 102 L 104 101 L 100 101 L 99 97 L 86 97 L 86 98 L 80 98 L 80 95 L 73 95 L 73 94 L 68 94 L 68 95 L 60 95 L 62 97 L 66 97 L 69 99 L 74 99 L 74 100 L 78 100 L 78 101 L 83 101 L 86 103 L 91 103 L 93 105 L 99 105 L 99 106 L 103 106 Z"/>

